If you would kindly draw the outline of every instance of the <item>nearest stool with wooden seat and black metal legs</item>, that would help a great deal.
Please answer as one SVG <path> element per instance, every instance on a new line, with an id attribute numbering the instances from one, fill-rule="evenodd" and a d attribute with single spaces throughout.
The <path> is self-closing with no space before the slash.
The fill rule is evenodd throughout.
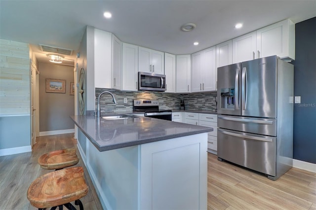
<path id="1" fill-rule="evenodd" d="M 80 198 L 88 193 L 89 187 L 83 177 L 83 168 L 75 167 L 62 169 L 42 175 L 35 179 L 30 185 L 27 197 L 32 206 L 45 209 L 75 209 L 70 203 L 75 201 L 83 210 Z"/>

